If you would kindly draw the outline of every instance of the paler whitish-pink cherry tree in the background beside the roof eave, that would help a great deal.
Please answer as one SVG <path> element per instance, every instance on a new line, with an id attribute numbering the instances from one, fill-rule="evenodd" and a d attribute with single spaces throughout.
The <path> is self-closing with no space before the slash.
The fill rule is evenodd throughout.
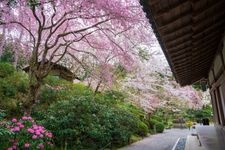
<path id="1" fill-rule="evenodd" d="M 163 63 L 163 54 L 156 52 L 154 47 L 150 47 L 145 57 L 136 58 L 135 69 L 120 82 L 121 89 L 129 94 L 129 101 L 150 114 L 157 108 L 171 112 L 201 108 L 202 92 L 191 86 L 180 87 L 172 77 L 168 64 Z"/>

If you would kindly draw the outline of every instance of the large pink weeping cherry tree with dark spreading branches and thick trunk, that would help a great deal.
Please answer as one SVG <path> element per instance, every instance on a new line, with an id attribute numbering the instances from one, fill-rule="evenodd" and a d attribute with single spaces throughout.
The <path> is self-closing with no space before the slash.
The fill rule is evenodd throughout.
<path id="1" fill-rule="evenodd" d="M 43 79 L 63 58 L 70 56 L 81 64 L 80 54 L 98 58 L 113 54 L 114 61 L 131 69 L 132 49 L 150 41 L 149 32 L 142 32 L 149 30 L 147 26 L 136 0 L 0 2 L 1 47 L 3 40 L 12 40 L 17 53 L 18 47 L 26 52 L 30 66 L 29 95 L 24 103 L 27 113 L 37 101 Z"/>

